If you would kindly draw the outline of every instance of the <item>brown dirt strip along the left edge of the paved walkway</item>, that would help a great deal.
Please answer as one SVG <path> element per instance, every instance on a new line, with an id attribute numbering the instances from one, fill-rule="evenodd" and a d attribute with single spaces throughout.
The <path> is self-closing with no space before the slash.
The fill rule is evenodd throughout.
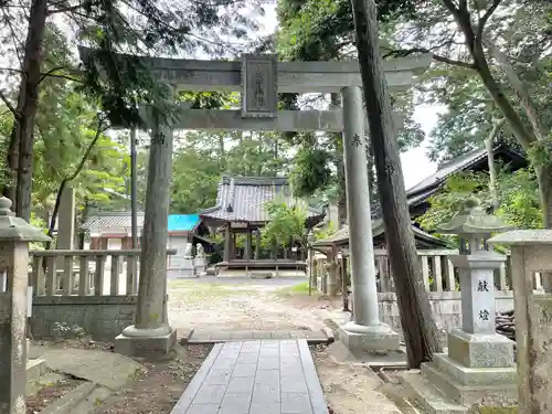
<path id="1" fill-rule="evenodd" d="M 142 362 L 145 371 L 92 414 L 168 414 L 212 347 L 177 347 L 170 360 Z"/>

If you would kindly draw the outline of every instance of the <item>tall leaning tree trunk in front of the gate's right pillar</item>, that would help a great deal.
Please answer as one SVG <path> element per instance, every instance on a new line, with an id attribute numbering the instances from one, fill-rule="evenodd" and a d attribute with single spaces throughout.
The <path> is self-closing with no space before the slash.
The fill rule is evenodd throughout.
<path id="1" fill-rule="evenodd" d="M 380 54 L 374 0 L 351 0 L 389 258 L 410 368 L 431 361 L 437 330 L 411 227 L 390 95 Z"/>

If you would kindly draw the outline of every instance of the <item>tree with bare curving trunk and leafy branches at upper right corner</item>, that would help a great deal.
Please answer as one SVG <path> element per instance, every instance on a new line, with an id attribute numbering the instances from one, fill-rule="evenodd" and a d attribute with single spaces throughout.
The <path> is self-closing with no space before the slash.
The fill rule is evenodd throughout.
<path id="1" fill-rule="evenodd" d="M 394 33 L 394 50 L 390 52 L 394 55 L 431 53 L 436 67 L 440 68 L 442 78 L 435 84 L 442 92 L 454 93 L 449 85 L 464 92 L 466 87 L 480 91 L 482 86 L 485 94 L 478 93 L 478 98 L 482 98 L 479 110 L 485 112 L 487 119 L 484 128 L 492 128 L 489 120 L 498 112 L 509 134 L 532 158 L 545 227 L 552 225 L 552 166 L 550 112 L 545 105 L 549 92 L 541 85 L 549 89 L 551 8 L 546 1 L 420 0 L 415 13 L 402 17 L 403 24 Z M 458 68 L 454 73 L 460 76 L 467 75 L 466 71 L 477 75 L 481 86 L 477 82 L 468 86 L 450 82 L 448 67 Z M 492 105 L 486 105 L 489 98 Z M 471 125 L 475 118 L 464 117 Z M 475 129 L 480 130 L 481 127 Z"/>

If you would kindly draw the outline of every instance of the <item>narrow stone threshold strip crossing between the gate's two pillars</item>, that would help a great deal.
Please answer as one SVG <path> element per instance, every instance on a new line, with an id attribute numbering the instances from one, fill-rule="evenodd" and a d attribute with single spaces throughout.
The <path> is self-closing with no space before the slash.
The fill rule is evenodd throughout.
<path id="1" fill-rule="evenodd" d="M 262 339 L 306 339 L 309 344 L 333 342 L 333 332 L 327 328 L 320 331 L 307 330 L 243 330 L 221 331 L 206 329 L 192 329 L 182 343 L 205 344 L 234 341 L 255 341 Z"/>

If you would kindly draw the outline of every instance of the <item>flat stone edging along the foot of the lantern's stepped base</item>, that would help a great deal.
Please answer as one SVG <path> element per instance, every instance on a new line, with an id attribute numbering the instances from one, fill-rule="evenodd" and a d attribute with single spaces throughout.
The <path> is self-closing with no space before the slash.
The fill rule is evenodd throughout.
<path id="1" fill-rule="evenodd" d="M 468 412 L 468 407 L 446 397 L 420 371 L 401 372 L 400 376 L 405 389 L 405 397 L 420 406 L 424 413 L 464 414 Z"/>

